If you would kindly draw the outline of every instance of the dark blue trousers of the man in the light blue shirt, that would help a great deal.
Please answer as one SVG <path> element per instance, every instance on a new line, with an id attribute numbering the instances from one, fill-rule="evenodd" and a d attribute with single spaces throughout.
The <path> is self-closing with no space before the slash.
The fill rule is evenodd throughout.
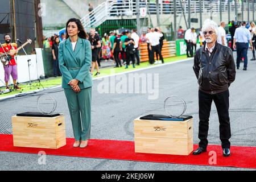
<path id="1" fill-rule="evenodd" d="M 243 61 L 243 68 L 247 68 L 247 51 L 248 51 L 248 43 L 237 43 L 237 68 L 240 67 L 240 61 L 242 57 L 244 58 Z"/>

